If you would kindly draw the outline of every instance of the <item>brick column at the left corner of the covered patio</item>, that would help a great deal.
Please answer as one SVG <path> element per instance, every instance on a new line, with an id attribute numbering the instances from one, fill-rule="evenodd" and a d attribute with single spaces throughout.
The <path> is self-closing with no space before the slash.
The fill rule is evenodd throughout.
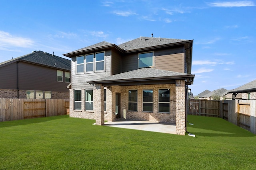
<path id="1" fill-rule="evenodd" d="M 96 84 L 93 93 L 93 107 L 96 114 L 96 125 L 104 125 L 104 87 Z"/>

